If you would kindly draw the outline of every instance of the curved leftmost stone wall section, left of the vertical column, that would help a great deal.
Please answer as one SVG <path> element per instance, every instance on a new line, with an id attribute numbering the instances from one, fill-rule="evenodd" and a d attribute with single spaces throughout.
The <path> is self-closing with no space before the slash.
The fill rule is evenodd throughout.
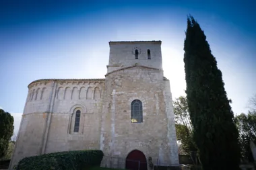
<path id="1" fill-rule="evenodd" d="M 42 153 L 53 81 L 30 84 L 10 167 L 20 159 Z"/>

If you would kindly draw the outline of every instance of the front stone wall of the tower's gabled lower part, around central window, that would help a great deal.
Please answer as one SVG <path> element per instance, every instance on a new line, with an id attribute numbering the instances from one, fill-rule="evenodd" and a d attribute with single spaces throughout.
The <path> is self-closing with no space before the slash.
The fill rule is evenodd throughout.
<path id="1" fill-rule="evenodd" d="M 177 146 L 176 138 L 175 141 L 168 138 L 176 137 L 176 132 L 174 121 L 168 122 L 170 116 L 166 115 L 166 83 L 162 71 L 129 67 L 106 75 L 105 85 L 108 88 L 103 102 L 101 135 L 104 154 L 125 158 L 137 149 L 147 159 L 152 157 L 154 162 L 158 159 L 170 163 L 170 159 L 174 158 L 173 163 L 177 160 L 179 163 L 178 153 L 172 152 Z M 131 123 L 131 102 L 134 99 L 143 103 L 143 122 L 139 124 Z M 172 103 L 168 106 L 171 107 Z M 170 128 L 168 124 L 171 124 Z"/>

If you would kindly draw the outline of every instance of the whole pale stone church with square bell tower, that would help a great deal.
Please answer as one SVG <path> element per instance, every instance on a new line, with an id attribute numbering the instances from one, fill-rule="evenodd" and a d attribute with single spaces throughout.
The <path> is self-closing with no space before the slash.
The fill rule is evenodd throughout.
<path id="1" fill-rule="evenodd" d="M 28 85 L 10 167 L 45 153 L 100 149 L 106 157 L 178 165 L 170 82 L 161 41 L 109 42 L 105 79 L 40 79 Z M 106 161 L 106 164 L 108 161 Z M 130 167 L 129 167 L 130 166 Z"/>

